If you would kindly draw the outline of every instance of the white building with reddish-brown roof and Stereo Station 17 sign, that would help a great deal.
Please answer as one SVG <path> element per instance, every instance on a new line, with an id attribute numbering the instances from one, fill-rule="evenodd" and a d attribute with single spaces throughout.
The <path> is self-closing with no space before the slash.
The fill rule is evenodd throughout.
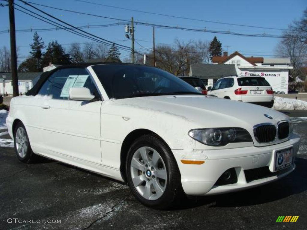
<path id="1" fill-rule="evenodd" d="M 221 57 L 213 57 L 212 63 L 234 64 L 238 76 L 262 76 L 275 92 L 288 93 L 289 69 L 293 69 L 289 58 L 245 57 L 239 52 L 228 56 L 224 52 Z"/>

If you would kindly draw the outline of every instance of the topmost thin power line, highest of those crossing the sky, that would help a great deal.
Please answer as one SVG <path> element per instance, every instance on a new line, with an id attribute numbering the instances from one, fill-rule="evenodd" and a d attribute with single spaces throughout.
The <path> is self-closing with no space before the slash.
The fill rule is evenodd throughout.
<path id="1" fill-rule="evenodd" d="M 143 11 L 143 10 L 128 9 L 128 8 L 123 8 L 123 7 L 118 7 L 118 6 L 110 6 L 110 5 L 106 5 L 106 4 L 89 2 L 89 1 L 84 1 L 84 0 L 75 0 L 75 1 L 85 2 L 85 3 L 94 4 L 94 5 L 100 5 L 100 6 L 106 6 L 106 7 L 111 7 L 111 8 L 115 8 L 115 9 L 129 10 L 129 11 L 134 11 L 134 12 L 139 12 L 139 13 L 147 13 L 147 14 L 160 15 L 160 16 L 165 16 L 165 17 L 181 18 L 181 19 L 192 20 L 192 21 L 202 21 L 202 22 L 210 22 L 210 23 L 223 24 L 223 25 L 243 26 L 243 27 L 251 27 L 251 28 L 258 28 L 258 29 L 285 30 L 285 29 L 281 29 L 281 28 L 272 28 L 272 27 L 262 27 L 262 26 L 243 25 L 243 24 L 226 23 L 226 22 L 218 22 L 218 21 L 209 21 L 209 20 L 196 19 L 196 18 L 190 18 L 190 17 L 181 17 L 181 16 L 169 15 L 169 14 L 163 14 L 163 13 L 154 13 L 154 12 L 148 12 L 148 11 Z"/>

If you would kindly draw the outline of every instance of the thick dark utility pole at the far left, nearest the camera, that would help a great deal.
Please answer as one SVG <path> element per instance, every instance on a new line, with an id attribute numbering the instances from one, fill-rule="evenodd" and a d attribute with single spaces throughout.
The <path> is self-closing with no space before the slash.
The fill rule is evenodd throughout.
<path id="1" fill-rule="evenodd" d="M 11 38 L 11 68 L 12 68 L 12 85 L 13 96 L 17 97 L 18 79 L 17 79 L 17 54 L 16 54 L 16 32 L 15 32 L 15 13 L 14 0 L 9 0 L 9 18 L 10 18 L 10 38 Z"/>

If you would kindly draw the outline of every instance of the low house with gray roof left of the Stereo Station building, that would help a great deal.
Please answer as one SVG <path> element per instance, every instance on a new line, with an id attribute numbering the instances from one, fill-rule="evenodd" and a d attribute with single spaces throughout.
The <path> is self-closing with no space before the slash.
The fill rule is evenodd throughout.
<path id="1" fill-rule="evenodd" d="M 220 78 L 237 76 L 237 71 L 232 64 L 191 64 L 189 76 L 199 77 L 206 87 L 212 87 Z"/>

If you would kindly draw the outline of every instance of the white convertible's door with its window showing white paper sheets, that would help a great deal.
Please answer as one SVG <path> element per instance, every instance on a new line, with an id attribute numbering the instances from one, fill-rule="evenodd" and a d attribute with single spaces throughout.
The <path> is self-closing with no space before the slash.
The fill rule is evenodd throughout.
<path id="1" fill-rule="evenodd" d="M 101 163 L 100 108 L 102 101 L 85 69 L 65 68 L 53 73 L 52 84 L 42 105 L 42 135 L 50 154 Z M 69 100 L 71 87 L 87 87 L 97 100 Z"/>

